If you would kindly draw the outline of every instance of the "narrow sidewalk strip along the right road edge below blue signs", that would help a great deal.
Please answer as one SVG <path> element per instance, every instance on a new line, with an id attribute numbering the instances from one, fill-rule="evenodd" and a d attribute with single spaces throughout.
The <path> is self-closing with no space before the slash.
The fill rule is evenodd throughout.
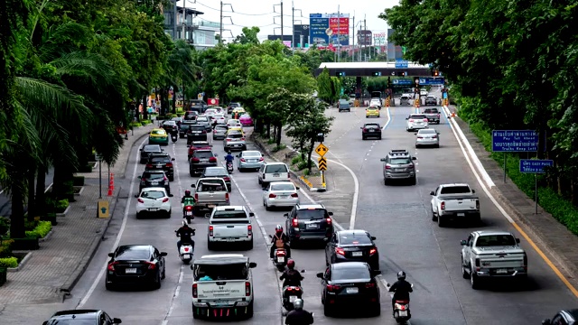
<path id="1" fill-rule="evenodd" d="M 458 114 L 456 107 L 450 106 L 448 108 L 452 113 Z M 509 177 L 504 183 L 504 170 L 502 167 L 489 157 L 489 152 L 480 143 L 478 137 L 471 133 L 470 127 L 459 116 L 454 118 L 480 159 L 481 165 L 495 183 L 496 186 L 490 188 L 494 198 L 499 201 L 499 204 L 506 209 L 511 217 L 517 219 L 516 221 L 519 222 L 528 235 L 532 236 L 533 239 L 537 239 L 536 244 L 538 246 L 555 258 L 555 261 L 552 262 L 562 266 L 565 269 L 561 270 L 564 276 L 576 285 L 576 277 L 578 276 L 578 237 L 574 236 L 572 232 L 541 207 L 538 207 L 538 214 L 536 215 L 535 201 L 529 199 L 522 190 L 519 190 Z"/>

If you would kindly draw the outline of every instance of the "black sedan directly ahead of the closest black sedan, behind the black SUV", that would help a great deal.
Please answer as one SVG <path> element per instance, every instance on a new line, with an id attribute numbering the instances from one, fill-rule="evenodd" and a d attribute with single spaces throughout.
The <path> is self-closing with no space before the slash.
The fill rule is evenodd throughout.
<path id="1" fill-rule="evenodd" d="M 366 262 L 372 270 L 379 269 L 378 247 L 365 230 L 341 230 L 333 234 L 325 246 L 325 265 L 340 262 Z"/>

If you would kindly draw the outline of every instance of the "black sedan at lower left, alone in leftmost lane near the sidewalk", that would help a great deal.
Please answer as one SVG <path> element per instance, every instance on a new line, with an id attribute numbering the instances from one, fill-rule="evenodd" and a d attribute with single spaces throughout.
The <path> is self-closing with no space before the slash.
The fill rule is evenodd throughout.
<path id="1" fill-rule="evenodd" d="M 108 253 L 105 286 L 114 290 L 119 284 L 150 283 L 155 289 L 161 288 L 165 277 L 165 252 L 152 245 L 123 245 Z"/>

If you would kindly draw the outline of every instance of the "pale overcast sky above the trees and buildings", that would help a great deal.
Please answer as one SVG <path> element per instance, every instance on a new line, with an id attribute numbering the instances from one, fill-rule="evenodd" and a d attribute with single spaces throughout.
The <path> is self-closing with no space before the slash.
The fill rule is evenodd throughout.
<path id="1" fill-rule="evenodd" d="M 187 8 L 200 11 L 200 18 L 210 22 L 219 23 L 219 0 L 183 0 Z M 183 1 L 179 1 L 182 6 Z M 281 1 L 279 0 L 225 0 L 223 4 L 223 16 L 231 16 L 223 19 L 223 28 L 230 29 L 233 35 L 241 33 L 243 27 L 257 26 L 261 29 L 259 40 L 266 40 L 267 35 L 281 34 Z M 275 12 L 274 12 L 275 4 Z M 399 0 L 294 0 L 284 1 L 284 34 L 290 35 L 292 31 L 292 7 L 295 8 L 295 24 L 309 24 L 309 14 L 332 14 L 337 13 L 338 5 L 340 13 L 355 16 L 355 24 L 358 25 L 366 19 L 368 30 L 372 32 L 387 32 L 387 23 L 378 18 L 386 8 L 398 5 Z M 231 12 L 231 5 L 233 10 Z M 296 9 L 301 9 L 297 11 Z M 302 17 L 303 13 L 303 17 Z M 274 22 L 275 17 L 275 22 Z M 231 20 L 232 23 L 231 24 Z M 350 20 L 350 27 L 353 21 Z M 276 27 L 276 28 L 275 28 Z M 356 33 L 359 31 L 359 25 Z M 223 32 L 225 38 L 230 37 L 230 32 Z"/>

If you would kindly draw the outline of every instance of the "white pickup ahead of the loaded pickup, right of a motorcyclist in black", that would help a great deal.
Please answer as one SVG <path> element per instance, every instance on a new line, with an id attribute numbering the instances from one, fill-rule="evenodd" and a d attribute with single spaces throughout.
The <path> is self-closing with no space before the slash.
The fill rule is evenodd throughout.
<path id="1" fill-rule="evenodd" d="M 253 225 L 251 217 L 243 206 L 217 207 L 209 218 L 207 245 L 214 250 L 219 244 L 242 244 L 247 249 L 253 249 Z"/>

